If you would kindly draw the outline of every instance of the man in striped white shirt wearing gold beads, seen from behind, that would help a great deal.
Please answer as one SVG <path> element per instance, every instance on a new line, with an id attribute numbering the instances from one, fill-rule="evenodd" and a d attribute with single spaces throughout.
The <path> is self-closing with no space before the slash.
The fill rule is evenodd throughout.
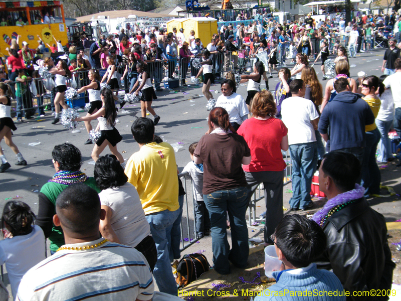
<path id="1" fill-rule="evenodd" d="M 153 276 L 142 253 L 99 235 L 98 193 L 78 183 L 56 201 L 53 223 L 66 244 L 22 278 L 16 300 L 151 300 Z"/>

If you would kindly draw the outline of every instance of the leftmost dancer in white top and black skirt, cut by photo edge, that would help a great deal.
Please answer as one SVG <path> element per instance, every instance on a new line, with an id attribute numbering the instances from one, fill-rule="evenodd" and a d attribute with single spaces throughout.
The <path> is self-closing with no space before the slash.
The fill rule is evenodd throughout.
<path id="1" fill-rule="evenodd" d="M 5 83 L 0 83 L 0 142 L 3 138 L 6 141 L 6 144 L 13 150 L 13 152 L 18 157 L 18 162 L 16 165 L 26 166 L 27 161 L 25 161 L 24 157 L 20 153 L 17 145 L 14 144 L 12 138 L 12 130 L 17 130 L 17 127 L 14 124 L 13 119 L 11 118 L 11 98 L 8 95 L 9 86 Z M 3 148 L 0 146 L 0 159 L 2 160 L 2 166 L 0 167 L 0 173 L 8 170 L 11 165 L 7 162 L 6 156 L 4 156 Z"/>

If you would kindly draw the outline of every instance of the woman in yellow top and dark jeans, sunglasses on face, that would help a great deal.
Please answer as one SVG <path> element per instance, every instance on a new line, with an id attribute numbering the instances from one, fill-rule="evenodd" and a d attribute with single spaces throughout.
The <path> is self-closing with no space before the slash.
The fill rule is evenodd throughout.
<path id="1" fill-rule="evenodd" d="M 384 85 L 374 75 L 364 78 L 361 82 L 361 93 L 365 95 L 362 99 L 370 106 L 376 118 L 381 104 L 376 91 L 378 90 L 379 94 L 383 93 L 385 89 Z M 365 132 L 366 146 L 362 161 L 361 186 L 365 188 L 364 197 L 367 198 L 369 195 L 380 194 L 381 176 L 376 163 L 376 149 L 380 140 L 380 132 L 374 122 L 365 126 Z"/>

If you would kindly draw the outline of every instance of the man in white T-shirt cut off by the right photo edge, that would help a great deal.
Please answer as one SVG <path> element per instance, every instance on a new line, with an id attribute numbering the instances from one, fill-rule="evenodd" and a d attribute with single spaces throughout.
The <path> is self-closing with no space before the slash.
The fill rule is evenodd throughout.
<path id="1" fill-rule="evenodd" d="M 396 59 L 394 63 L 395 73 L 387 76 L 383 84 L 386 88 L 391 88 L 392 99 L 394 100 L 394 129 L 401 137 L 401 59 Z"/>

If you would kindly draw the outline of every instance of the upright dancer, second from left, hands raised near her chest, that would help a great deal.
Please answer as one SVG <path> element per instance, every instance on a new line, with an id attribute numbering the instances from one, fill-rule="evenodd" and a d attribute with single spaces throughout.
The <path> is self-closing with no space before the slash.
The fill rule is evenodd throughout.
<path id="1" fill-rule="evenodd" d="M 49 72 L 55 75 L 56 96 L 54 97 L 54 106 L 56 115 L 52 124 L 56 124 L 60 121 L 60 105 L 63 109 L 68 109 L 68 105 L 64 101 L 64 95 L 67 90 L 67 77 L 71 77 L 71 71 L 68 69 L 65 61 L 59 60 L 56 67 L 52 68 Z"/>

